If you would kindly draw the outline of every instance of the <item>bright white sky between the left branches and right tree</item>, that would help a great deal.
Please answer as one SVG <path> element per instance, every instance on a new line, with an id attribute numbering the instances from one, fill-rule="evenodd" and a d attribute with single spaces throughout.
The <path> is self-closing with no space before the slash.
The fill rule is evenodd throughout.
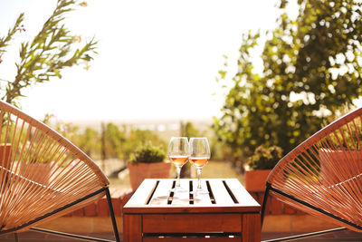
<path id="1" fill-rule="evenodd" d="M 62 79 L 33 86 L 21 100 L 36 118 L 207 119 L 219 115 L 223 55 L 236 62 L 242 34 L 271 29 L 278 15 L 270 0 L 87 0 L 65 24 L 82 38 L 99 40 L 89 71 L 71 68 Z M 52 14 L 55 0 L 1 0 L 0 36 L 25 13 L 29 39 Z M 0 79 L 14 80 L 20 46 L 13 42 Z M 213 93 L 216 92 L 216 95 Z"/>

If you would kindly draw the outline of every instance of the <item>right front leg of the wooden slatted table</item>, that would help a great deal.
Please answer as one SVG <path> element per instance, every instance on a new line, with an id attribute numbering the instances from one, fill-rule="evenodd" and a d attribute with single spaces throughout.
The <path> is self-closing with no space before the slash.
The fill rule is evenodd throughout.
<path id="1" fill-rule="evenodd" d="M 259 213 L 243 214 L 243 242 L 262 240 L 261 215 Z"/>

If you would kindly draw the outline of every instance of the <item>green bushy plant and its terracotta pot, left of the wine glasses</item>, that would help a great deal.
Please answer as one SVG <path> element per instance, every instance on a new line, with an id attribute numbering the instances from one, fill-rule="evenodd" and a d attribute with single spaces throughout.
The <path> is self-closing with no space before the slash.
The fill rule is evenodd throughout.
<path id="1" fill-rule="evenodd" d="M 144 179 L 167 179 L 171 169 L 170 162 L 164 162 L 165 151 L 146 144 L 130 155 L 128 169 L 130 185 L 136 190 Z"/>

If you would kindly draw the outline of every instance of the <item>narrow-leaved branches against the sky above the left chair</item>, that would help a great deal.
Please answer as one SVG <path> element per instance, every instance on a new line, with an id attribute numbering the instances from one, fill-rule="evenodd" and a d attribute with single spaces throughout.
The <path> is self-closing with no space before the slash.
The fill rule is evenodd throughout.
<path id="1" fill-rule="evenodd" d="M 62 24 L 64 14 L 74 10 L 75 0 L 58 0 L 57 5 L 43 24 L 42 30 L 33 37 L 32 41 L 21 44 L 20 61 L 15 63 L 16 75 L 14 80 L 3 80 L 6 86 L 1 85 L 0 97 L 6 102 L 18 105 L 16 99 L 24 96 L 24 88 L 36 83 L 49 82 L 52 77 L 62 78 L 62 70 L 66 67 L 88 63 L 92 59 L 90 54 L 95 52 L 95 42 L 83 44 L 75 49 L 81 37 L 73 35 Z M 84 6 L 84 3 L 80 5 Z M 5 37 L 0 37 L 0 63 L 3 62 L 5 48 L 14 35 L 24 32 L 24 14 L 19 15 L 13 28 L 9 29 Z M 87 65 L 88 67 L 88 65 Z"/>

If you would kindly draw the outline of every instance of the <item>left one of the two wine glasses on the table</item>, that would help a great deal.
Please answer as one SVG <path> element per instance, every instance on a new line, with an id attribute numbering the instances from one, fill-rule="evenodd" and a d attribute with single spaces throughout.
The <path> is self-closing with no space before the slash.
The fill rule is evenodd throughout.
<path id="1" fill-rule="evenodd" d="M 189 146 L 187 137 L 172 137 L 168 144 L 168 159 L 175 165 L 177 180 L 175 189 L 171 191 L 183 190 L 180 185 L 181 168 L 188 160 Z"/>

